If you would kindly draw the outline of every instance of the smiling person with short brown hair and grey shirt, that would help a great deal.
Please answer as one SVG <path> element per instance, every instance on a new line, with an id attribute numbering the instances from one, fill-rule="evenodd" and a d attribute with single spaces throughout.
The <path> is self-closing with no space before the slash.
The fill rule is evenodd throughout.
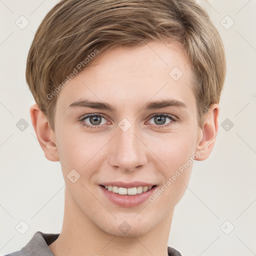
<path id="1" fill-rule="evenodd" d="M 26 63 L 31 122 L 65 181 L 60 233 L 13 255 L 181 255 L 168 246 L 192 164 L 218 130 L 222 40 L 193 0 L 61 0 Z"/>

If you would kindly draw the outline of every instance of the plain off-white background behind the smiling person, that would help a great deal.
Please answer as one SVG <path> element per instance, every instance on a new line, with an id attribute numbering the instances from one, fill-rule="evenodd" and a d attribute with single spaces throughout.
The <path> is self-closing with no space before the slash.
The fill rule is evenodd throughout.
<path id="1" fill-rule="evenodd" d="M 38 230 L 61 230 L 64 180 L 59 162 L 48 161 L 37 141 L 29 114 L 34 100 L 24 75 L 34 33 L 55 3 L 0 0 L 0 255 L 19 250 Z M 256 1 L 199 3 L 223 38 L 227 74 L 215 146 L 209 158 L 194 162 L 188 188 L 174 212 L 168 244 L 184 256 L 255 255 Z M 25 24 L 21 15 L 29 21 L 23 29 L 15 23 Z M 28 123 L 23 131 L 16 126 L 21 118 Z M 226 118 L 233 123 L 228 130 Z M 24 234 L 20 234 L 25 231 L 23 222 L 21 229 L 15 228 L 20 221 L 29 226 Z"/>

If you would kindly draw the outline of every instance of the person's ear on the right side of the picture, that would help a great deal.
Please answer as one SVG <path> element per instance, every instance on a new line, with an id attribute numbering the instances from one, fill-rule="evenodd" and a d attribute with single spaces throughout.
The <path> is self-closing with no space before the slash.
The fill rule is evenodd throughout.
<path id="1" fill-rule="evenodd" d="M 198 136 L 196 151 L 200 152 L 200 155 L 196 160 L 205 160 L 211 153 L 217 131 L 218 131 L 218 113 L 219 105 L 211 104 L 207 113 L 204 114 L 204 124 L 200 128 L 200 136 Z"/>

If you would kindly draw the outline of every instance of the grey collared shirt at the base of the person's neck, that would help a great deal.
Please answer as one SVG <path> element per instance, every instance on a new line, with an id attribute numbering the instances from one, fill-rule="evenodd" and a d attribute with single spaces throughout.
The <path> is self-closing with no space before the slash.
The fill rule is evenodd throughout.
<path id="1" fill-rule="evenodd" d="M 58 235 L 59 233 L 52 234 L 37 231 L 24 247 L 4 256 L 54 256 L 48 245 L 55 241 Z M 167 251 L 169 256 L 181 256 L 177 250 L 169 246 Z"/>

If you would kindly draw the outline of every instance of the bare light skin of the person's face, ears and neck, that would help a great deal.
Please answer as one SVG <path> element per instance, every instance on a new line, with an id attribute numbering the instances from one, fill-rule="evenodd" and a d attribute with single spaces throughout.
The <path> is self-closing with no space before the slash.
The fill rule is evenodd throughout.
<path id="1" fill-rule="evenodd" d="M 183 73 L 176 81 L 169 75 L 175 66 Z M 209 156 L 219 106 L 212 104 L 203 127 L 198 127 L 191 77 L 189 62 L 174 42 L 117 47 L 98 55 L 59 92 L 54 131 L 38 105 L 31 106 L 40 146 L 48 160 L 60 161 L 66 184 L 62 230 L 49 245 L 55 256 L 167 255 L 174 206 L 186 189 L 192 164 L 154 202 L 135 207 L 110 202 L 99 184 L 140 180 L 160 188 L 196 152 L 196 160 Z M 69 107 L 81 98 L 110 103 L 116 111 Z M 142 109 L 148 101 L 166 98 L 187 107 Z M 105 116 L 100 128 L 82 126 L 79 120 L 90 113 Z M 162 113 L 178 121 L 166 117 L 159 124 L 152 117 Z M 118 126 L 123 118 L 131 124 L 126 131 Z M 89 118 L 83 122 L 95 123 Z M 72 169 L 80 174 L 74 183 L 67 178 Z M 125 234 L 118 228 L 123 221 L 131 227 Z"/>

